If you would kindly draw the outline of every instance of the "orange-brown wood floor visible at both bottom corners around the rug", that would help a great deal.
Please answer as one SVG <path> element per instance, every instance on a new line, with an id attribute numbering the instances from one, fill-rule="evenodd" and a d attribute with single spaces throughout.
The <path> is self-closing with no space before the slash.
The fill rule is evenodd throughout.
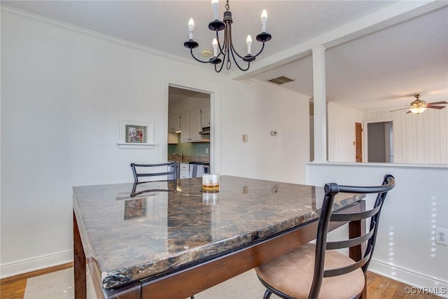
<path id="1" fill-rule="evenodd" d="M 57 267 L 50 267 L 48 269 L 38 270 L 25 274 L 20 274 L 14 277 L 1 279 L 0 281 L 0 298 L 3 299 L 23 299 L 25 295 L 25 287 L 27 286 L 27 279 L 36 277 L 38 275 L 48 274 L 59 270 L 64 270 L 73 267 L 73 263 L 59 265 Z M 389 279 L 379 274 L 367 272 L 367 296 L 369 299 L 396 299 L 396 298 L 412 298 L 412 299 L 430 299 L 440 298 L 431 294 L 407 294 L 405 288 L 407 284 Z"/>

